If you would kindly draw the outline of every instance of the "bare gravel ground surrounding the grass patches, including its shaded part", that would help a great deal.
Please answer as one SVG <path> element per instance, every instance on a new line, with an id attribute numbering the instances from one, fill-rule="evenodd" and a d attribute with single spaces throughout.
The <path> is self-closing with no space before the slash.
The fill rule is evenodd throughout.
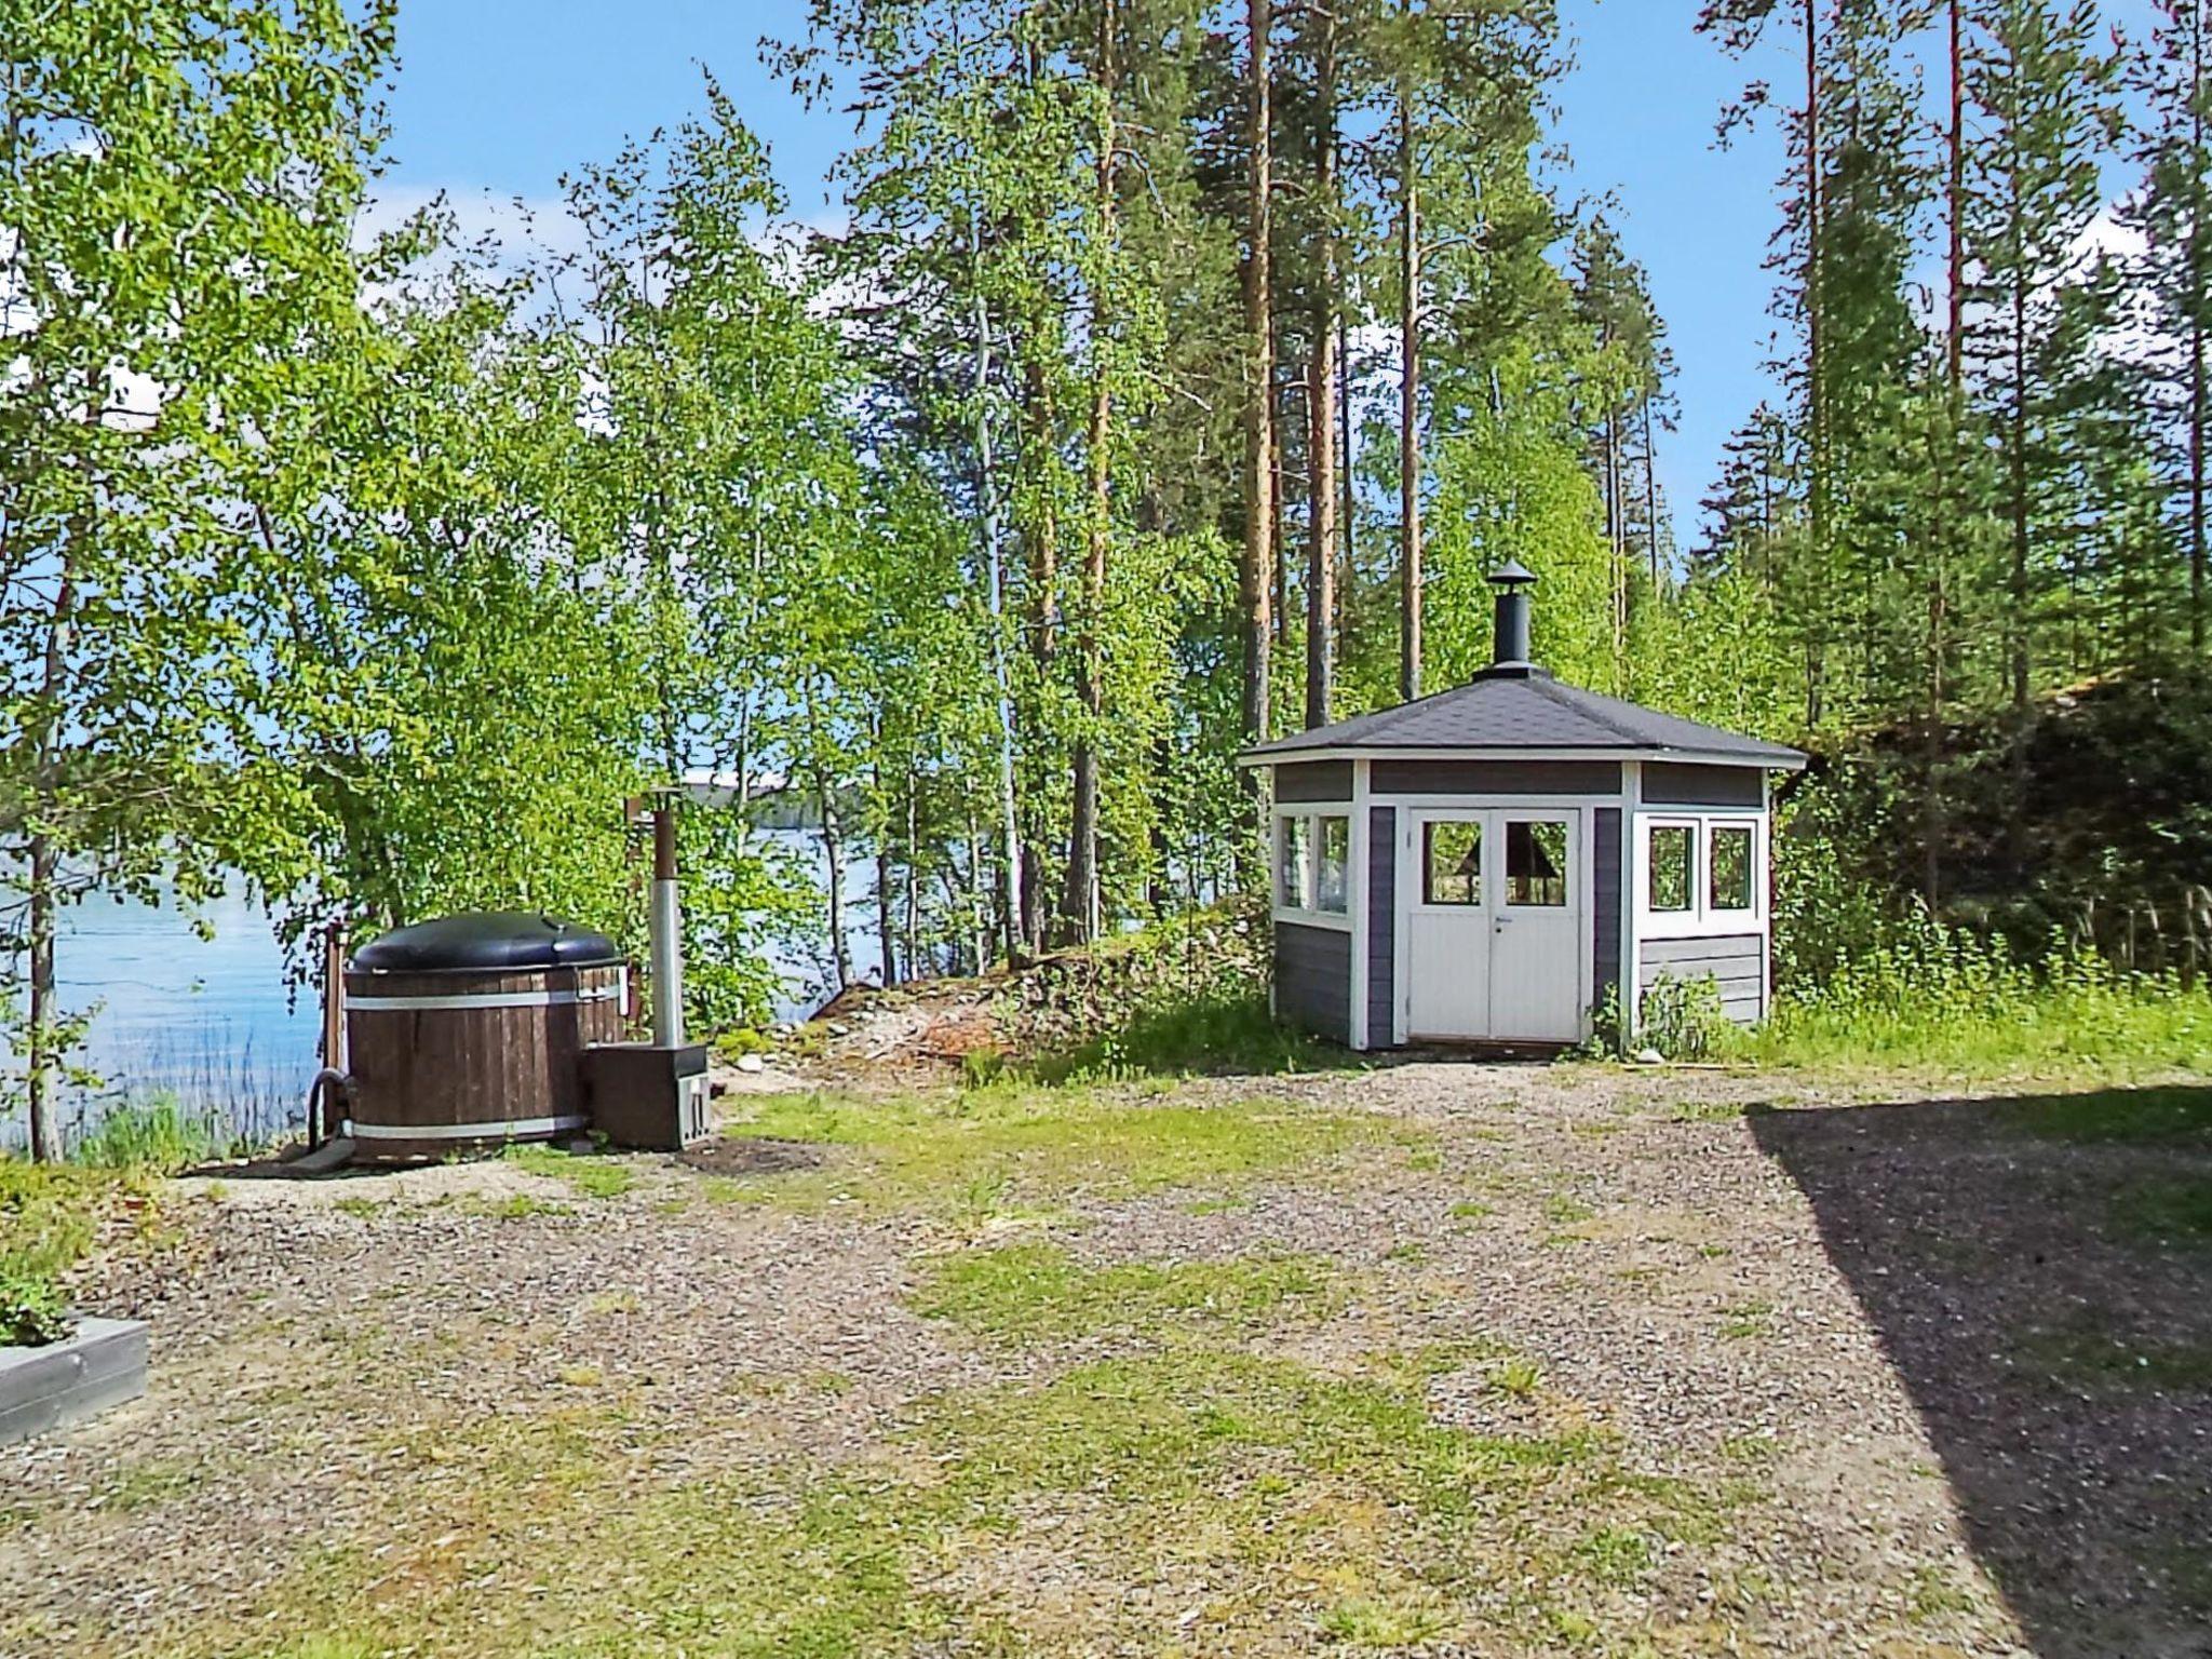
<path id="1" fill-rule="evenodd" d="M 1562 1630 L 1562 1652 L 2212 1655 L 2212 1239 L 2130 1208 L 2212 1190 L 2212 1144 L 2031 1133 L 2042 1108 L 2006 1097 L 1887 1104 L 1905 1093 L 1433 1062 L 1192 1082 L 1179 1104 L 1281 1095 L 1405 1135 L 1219 1203 L 1077 1194 L 1051 1237 L 1086 1265 L 1327 1261 L 1343 1305 L 1272 1352 L 1349 1374 L 1511 1349 L 1540 1394 L 1444 1367 L 1436 1420 L 1573 1418 L 1668 1478 L 1754 1473 L 1714 1537 L 1608 1604 L 1632 1630 Z M 617 1400 L 595 1455 L 626 1489 L 774 1482 L 880 1460 L 929 1400 L 1099 1352 L 916 1316 L 920 1263 L 971 1228 L 717 1201 L 717 1181 L 845 1157 L 728 1146 L 706 1168 L 624 1159 L 635 1183 L 597 1199 L 511 1164 L 177 1183 L 177 1237 L 82 1287 L 153 1321 L 153 1391 L 0 1451 L 0 1655 L 290 1655 L 283 1586 L 374 1551 L 392 1493 L 487 1425 Z M 524 1522 L 484 1524 L 524 1548 Z M 1126 1586 L 1024 1559 L 947 1582 L 1015 1624 L 1029 1586 L 1048 1595 L 1042 1650 L 1327 1641 L 1305 1621 L 1179 1648 Z M 1113 1635 L 1084 1624 L 1099 1597 L 1119 1597 Z M 927 1650 L 969 1648 L 956 1630 Z"/>

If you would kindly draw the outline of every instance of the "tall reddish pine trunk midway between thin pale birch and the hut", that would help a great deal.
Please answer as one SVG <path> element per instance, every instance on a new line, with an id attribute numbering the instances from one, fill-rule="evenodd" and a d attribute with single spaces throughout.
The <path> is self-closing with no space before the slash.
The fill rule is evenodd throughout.
<path id="1" fill-rule="evenodd" d="M 1099 4 L 1099 115 L 1097 237 L 1104 259 L 1115 257 L 1115 0 Z M 1075 639 L 1084 726 L 1075 734 L 1075 807 L 1068 834 L 1066 914 L 1075 936 L 1099 936 L 1099 723 L 1106 712 L 1106 666 L 1099 628 L 1106 611 L 1106 551 L 1113 540 L 1113 378 L 1108 376 L 1106 272 L 1091 301 L 1091 524 L 1084 542 L 1084 617 Z"/>

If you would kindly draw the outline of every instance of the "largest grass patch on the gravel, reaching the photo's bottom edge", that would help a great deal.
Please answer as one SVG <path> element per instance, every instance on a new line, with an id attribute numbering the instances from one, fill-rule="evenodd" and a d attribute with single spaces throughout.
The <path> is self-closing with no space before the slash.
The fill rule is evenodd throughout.
<path id="1" fill-rule="evenodd" d="M 1714 1495 L 1628 1473 L 1593 1429 L 1438 1422 L 1429 1378 L 1462 1360 L 1334 1376 L 1183 1340 L 936 1396 L 876 1455 L 672 1482 L 650 1473 L 690 1429 L 595 1394 L 425 1425 L 380 1462 L 383 1511 L 354 1537 L 168 1655 L 1155 1652 L 1159 1606 L 1121 1586 L 1166 1577 L 1208 1586 L 1183 1652 L 1473 1630 L 1524 1652 L 1555 1619 L 1626 1628 L 1637 1542 L 1714 1524 Z M 1031 1597 L 1044 1559 L 1055 1595 Z"/>

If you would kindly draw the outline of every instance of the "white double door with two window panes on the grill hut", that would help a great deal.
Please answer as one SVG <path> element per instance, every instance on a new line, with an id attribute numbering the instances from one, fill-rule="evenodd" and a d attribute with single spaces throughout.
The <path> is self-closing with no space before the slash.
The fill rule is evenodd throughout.
<path id="1" fill-rule="evenodd" d="M 1422 807 L 1402 816 L 1407 1037 L 1579 1042 L 1582 812 Z"/>

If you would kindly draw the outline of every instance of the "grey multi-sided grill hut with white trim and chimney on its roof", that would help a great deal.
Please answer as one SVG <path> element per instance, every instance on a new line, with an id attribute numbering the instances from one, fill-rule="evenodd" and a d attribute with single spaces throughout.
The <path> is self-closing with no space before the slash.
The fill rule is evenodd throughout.
<path id="1" fill-rule="evenodd" d="M 1354 1048 L 1571 1044 L 1659 978 L 1767 1011 L 1767 776 L 1798 750 L 1559 684 L 1506 564 L 1467 686 L 1248 750 L 1274 774 L 1274 1006 Z"/>

